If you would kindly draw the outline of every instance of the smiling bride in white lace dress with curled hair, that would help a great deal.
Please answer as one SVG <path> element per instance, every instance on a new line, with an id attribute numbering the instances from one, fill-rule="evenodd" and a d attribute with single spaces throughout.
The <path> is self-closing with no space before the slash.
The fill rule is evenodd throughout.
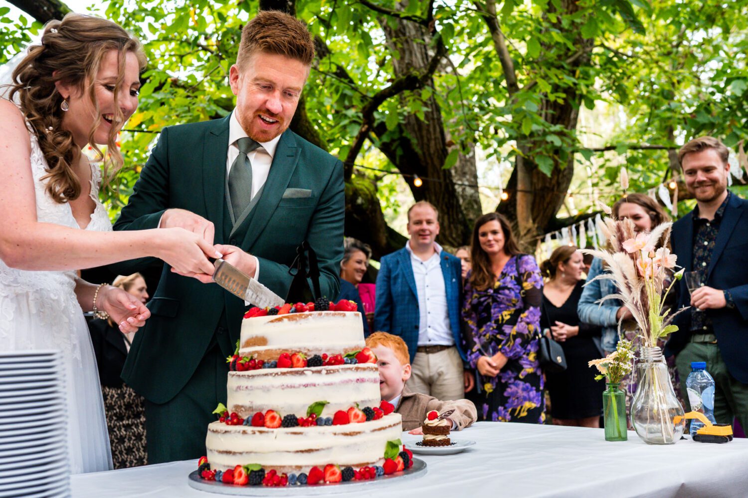
<path id="1" fill-rule="evenodd" d="M 99 163 L 82 149 L 106 144 L 111 163 L 121 164 L 114 141 L 138 106 L 144 66 L 140 43 L 120 26 L 69 14 L 46 25 L 41 45 L 13 71 L 13 102 L 0 99 L 0 350 L 59 350 L 73 473 L 111 469 L 82 311 L 107 312 L 123 332 L 150 316 L 125 291 L 92 285 L 76 270 L 156 256 L 183 273 L 212 273 L 206 255 L 215 256 L 182 228 L 114 233 L 99 202 Z"/>

